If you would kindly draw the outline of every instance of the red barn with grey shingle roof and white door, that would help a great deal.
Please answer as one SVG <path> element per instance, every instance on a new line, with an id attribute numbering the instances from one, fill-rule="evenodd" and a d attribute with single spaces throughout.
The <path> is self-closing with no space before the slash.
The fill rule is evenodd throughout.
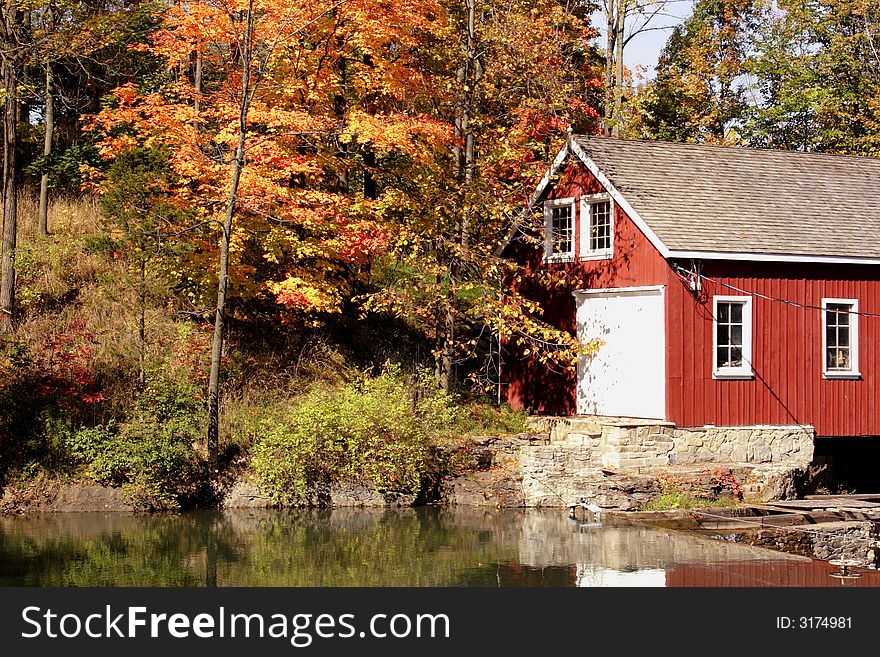
<path id="1" fill-rule="evenodd" d="M 575 135 L 535 198 L 589 281 L 548 317 L 604 344 L 506 361 L 514 407 L 880 435 L 880 159 Z"/>

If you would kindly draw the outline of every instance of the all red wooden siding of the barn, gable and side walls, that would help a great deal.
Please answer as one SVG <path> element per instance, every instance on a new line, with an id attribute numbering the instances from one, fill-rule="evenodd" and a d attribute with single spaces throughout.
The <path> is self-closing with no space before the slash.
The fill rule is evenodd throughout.
<path id="1" fill-rule="evenodd" d="M 601 191 L 592 174 L 570 164 L 550 198 L 579 199 Z M 580 220 L 579 212 L 575 220 Z M 576 239 L 579 233 L 576 225 Z M 543 300 L 546 318 L 570 331 L 575 330 L 574 289 L 666 286 L 666 411 L 667 419 L 677 425 L 811 424 L 820 436 L 880 436 L 880 317 L 858 320 L 861 379 L 824 379 L 821 311 L 753 296 L 754 378 L 716 380 L 711 312 L 714 295 L 754 293 L 805 306 L 820 306 L 823 298 L 858 299 L 861 313 L 880 314 L 880 267 L 707 260 L 702 273 L 717 282 L 704 280 L 703 296 L 695 297 L 616 204 L 612 259 L 576 258 L 547 265 L 542 255 L 537 249 L 520 254 L 532 268 L 564 268 L 577 279 L 565 290 L 531 290 Z M 509 349 L 502 367 L 507 398 L 515 408 L 575 412 L 574 372 L 553 372 L 514 349 Z"/>

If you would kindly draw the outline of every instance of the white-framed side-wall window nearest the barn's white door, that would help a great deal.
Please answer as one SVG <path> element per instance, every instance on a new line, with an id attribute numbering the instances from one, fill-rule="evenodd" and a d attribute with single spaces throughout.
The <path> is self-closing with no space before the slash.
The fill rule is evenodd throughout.
<path id="1" fill-rule="evenodd" d="M 716 296 L 712 305 L 712 375 L 752 378 L 752 298 Z"/>

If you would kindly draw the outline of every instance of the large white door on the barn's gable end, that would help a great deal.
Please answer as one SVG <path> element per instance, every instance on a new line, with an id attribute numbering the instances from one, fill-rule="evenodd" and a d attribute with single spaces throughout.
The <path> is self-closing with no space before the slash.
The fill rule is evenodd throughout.
<path id="1" fill-rule="evenodd" d="M 578 338 L 604 342 L 578 366 L 578 413 L 664 419 L 663 287 L 580 290 L 575 297 Z"/>

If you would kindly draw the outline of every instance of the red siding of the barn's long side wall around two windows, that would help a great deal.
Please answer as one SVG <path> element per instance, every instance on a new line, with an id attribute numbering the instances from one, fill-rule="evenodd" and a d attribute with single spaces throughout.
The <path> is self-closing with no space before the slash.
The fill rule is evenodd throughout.
<path id="1" fill-rule="evenodd" d="M 876 267 L 795 263 L 703 263 L 697 300 L 670 275 L 667 294 L 667 411 L 680 426 L 812 424 L 821 436 L 880 435 L 876 374 L 880 317 L 861 316 L 858 380 L 822 377 L 822 312 L 753 295 L 752 371 L 745 381 L 712 378 L 712 296 L 741 295 L 726 285 L 820 306 L 825 297 L 858 299 L 880 313 Z M 726 285 L 725 285 L 726 284 Z"/>

